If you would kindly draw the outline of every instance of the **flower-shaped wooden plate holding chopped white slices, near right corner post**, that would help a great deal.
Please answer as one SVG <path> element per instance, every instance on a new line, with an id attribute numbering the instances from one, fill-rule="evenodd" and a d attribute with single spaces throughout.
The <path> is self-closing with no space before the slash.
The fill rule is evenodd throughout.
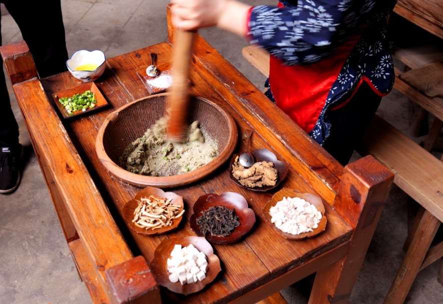
<path id="1" fill-rule="evenodd" d="M 280 230 L 279 228 L 277 228 L 277 226 L 271 222 L 271 215 L 269 214 L 269 209 L 272 206 L 275 206 L 277 204 L 277 202 L 279 202 L 280 200 L 283 199 L 283 197 L 299 197 L 302 198 L 304 200 L 306 200 L 307 202 L 313 204 L 318 211 L 321 212 L 321 219 L 320 222 L 318 223 L 318 227 L 313 229 L 313 231 L 309 231 L 309 232 L 303 232 L 300 234 L 291 234 L 291 233 L 287 233 L 287 232 L 283 232 L 282 230 Z M 326 216 L 324 215 L 324 205 L 323 202 L 321 200 L 320 196 L 314 195 L 312 193 L 301 193 L 297 190 L 294 189 L 289 189 L 289 188 L 282 188 L 280 191 L 276 192 L 271 200 L 269 200 L 266 205 L 263 208 L 263 215 L 266 218 L 266 221 L 271 225 L 271 227 L 277 231 L 278 233 L 280 233 L 281 235 L 283 235 L 284 237 L 288 238 L 288 239 L 303 239 L 306 237 L 312 237 L 317 235 L 320 232 L 323 232 L 326 228 Z"/>

